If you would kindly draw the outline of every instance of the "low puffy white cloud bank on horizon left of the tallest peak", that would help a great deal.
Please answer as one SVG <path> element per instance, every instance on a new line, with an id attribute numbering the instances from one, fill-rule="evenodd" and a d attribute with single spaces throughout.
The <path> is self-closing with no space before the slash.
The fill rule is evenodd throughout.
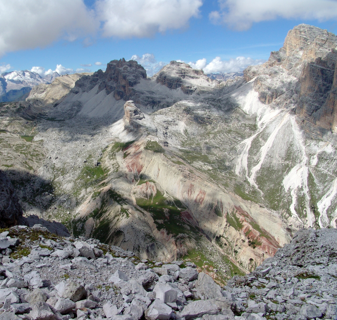
<path id="1" fill-rule="evenodd" d="M 188 64 L 193 69 L 202 69 L 205 74 L 210 74 L 218 72 L 240 72 L 249 65 L 262 64 L 264 62 L 266 62 L 266 60 L 245 57 L 237 57 L 229 60 L 221 60 L 220 57 L 216 57 L 210 63 L 207 63 L 207 60 L 204 58 L 196 62 L 189 62 Z"/>

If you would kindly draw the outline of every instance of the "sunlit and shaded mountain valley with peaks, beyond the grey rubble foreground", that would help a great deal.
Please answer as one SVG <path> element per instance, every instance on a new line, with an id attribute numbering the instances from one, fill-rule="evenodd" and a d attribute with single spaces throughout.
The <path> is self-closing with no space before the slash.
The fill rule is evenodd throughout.
<path id="1" fill-rule="evenodd" d="M 0 105 L 0 168 L 24 215 L 221 282 L 336 228 L 336 61 L 337 37 L 302 24 L 243 76 L 124 59 L 64 75 Z"/>

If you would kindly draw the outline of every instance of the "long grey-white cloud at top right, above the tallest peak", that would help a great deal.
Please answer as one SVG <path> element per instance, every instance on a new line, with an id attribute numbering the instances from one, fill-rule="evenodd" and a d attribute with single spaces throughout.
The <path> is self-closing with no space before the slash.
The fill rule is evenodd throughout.
<path id="1" fill-rule="evenodd" d="M 237 30 L 247 30 L 254 22 L 284 19 L 337 18 L 336 0 L 218 0 L 220 9 L 210 13 L 215 23 L 224 23 Z"/>

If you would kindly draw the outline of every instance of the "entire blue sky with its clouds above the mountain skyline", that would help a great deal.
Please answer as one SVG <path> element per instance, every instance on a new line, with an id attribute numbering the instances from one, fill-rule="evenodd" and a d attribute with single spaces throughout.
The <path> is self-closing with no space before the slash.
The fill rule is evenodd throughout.
<path id="1" fill-rule="evenodd" d="M 194 66 L 240 71 L 267 60 L 300 23 L 337 32 L 336 0 L 284 0 L 282 8 L 273 0 L 48 0 L 53 7 L 46 1 L 30 0 L 36 6 L 27 8 L 23 0 L 0 0 L 2 72 L 96 71 L 134 55 L 150 76 L 171 60 L 206 59 Z M 134 10 L 126 7 L 135 3 Z M 220 63 L 209 65 L 216 57 Z"/>

